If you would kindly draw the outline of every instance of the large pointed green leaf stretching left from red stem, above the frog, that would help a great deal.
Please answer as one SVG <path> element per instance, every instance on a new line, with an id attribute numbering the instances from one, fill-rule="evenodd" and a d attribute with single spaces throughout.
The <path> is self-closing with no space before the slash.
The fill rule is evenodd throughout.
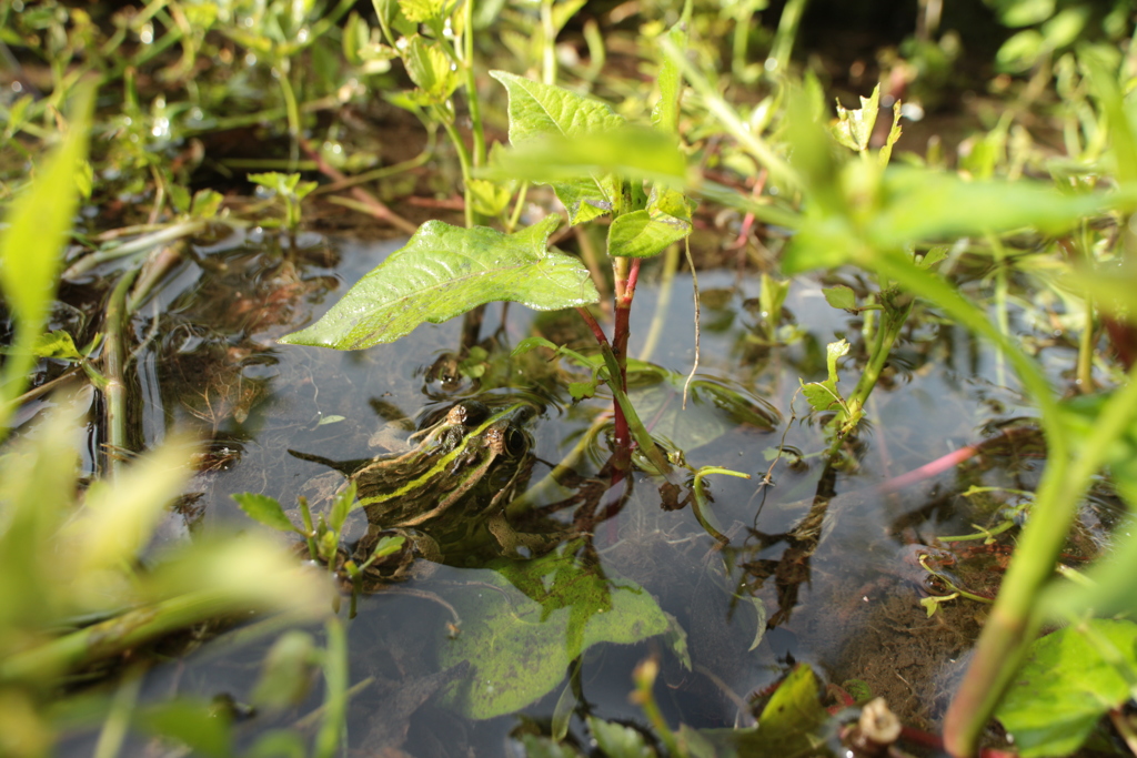
<path id="1" fill-rule="evenodd" d="M 588 269 L 547 249 L 556 216 L 515 234 L 431 220 L 359 280 L 308 328 L 281 342 L 357 350 L 392 342 L 422 323 L 441 324 L 493 300 L 536 310 L 596 302 Z"/>

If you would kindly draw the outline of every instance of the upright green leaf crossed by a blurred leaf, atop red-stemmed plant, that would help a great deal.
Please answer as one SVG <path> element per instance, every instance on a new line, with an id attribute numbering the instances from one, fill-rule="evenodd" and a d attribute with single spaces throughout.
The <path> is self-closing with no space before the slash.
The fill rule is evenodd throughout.
<path id="1" fill-rule="evenodd" d="M 490 72 L 509 95 L 509 142 L 539 138 L 582 138 L 625 125 L 611 107 L 559 86 L 533 82 L 506 72 Z M 568 209 L 568 220 L 580 224 L 606 214 L 619 200 L 619 182 L 611 176 L 586 175 L 550 182 Z"/>

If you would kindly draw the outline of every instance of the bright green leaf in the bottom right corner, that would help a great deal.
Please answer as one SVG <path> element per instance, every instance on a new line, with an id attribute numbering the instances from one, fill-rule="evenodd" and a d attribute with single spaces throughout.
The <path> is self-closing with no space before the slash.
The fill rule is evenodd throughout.
<path id="1" fill-rule="evenodd" d="M 1082 628 L 1085 627 L 1085 628 Z M 1096 638 L 1096 643 L 1095 643 Z M 1137 624 L 1094 619 L 1036 640 L 995 711 L 1023 758 L 1076 751 L 1097 720 L 1129 700 L 1129 684 L 1103 652 L 1130 675 L 1137 668 Z"/>

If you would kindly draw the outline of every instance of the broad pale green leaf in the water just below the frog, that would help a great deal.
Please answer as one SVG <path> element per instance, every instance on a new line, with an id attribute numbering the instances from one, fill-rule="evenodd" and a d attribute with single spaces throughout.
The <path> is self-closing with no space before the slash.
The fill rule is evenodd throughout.
<path id="1" fill-rule="evenodd" d="M 472 718 L 513 713 L 553 691 L 570 661 L 600 642 L 631 644 L 667 630 L 655 599 L 634 582 L 579 559 L 580 543 L 479 572 L 479 592 L 454 601 L 462 632 L 445 643 L 443 668 L 470 661 L 449 703 Z"/>

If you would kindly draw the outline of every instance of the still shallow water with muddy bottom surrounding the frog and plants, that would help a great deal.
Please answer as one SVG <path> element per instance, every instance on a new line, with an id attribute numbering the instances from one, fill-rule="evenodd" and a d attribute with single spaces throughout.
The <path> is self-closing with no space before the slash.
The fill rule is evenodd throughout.
<path id="1" fill-rule="evenodd" d="M 236 492 L 260 492 L 285 506 L 306 493 L 317 502 L 321 492 L 330 491 L 327 468 L 290 451 L 335 460 L 370 458 L 392 436 L 405 439 L 408 425 L 413 428 L 432 409 L 491 388 L 505 392 L 512 386 L 545 405 L 532 428 L 539 463 L 531 481 L 545 476 L 606 409 L 601 400 L 573 405 L 563 377 L 543 359 L 501 357 L 537 332 L 587 344 L 574 315 L 491 305 L 481 331 L 492 338 L 484 343 L 490 359 L 479 381 L 448 383 L 439 376 L 446 356 L 460 342 L 460 319 L 351 353 L 275 343 L 318 317 L 398 245 L 313 236 L 282 249 L 263 234 L 232 238 L 196 250 L 194 260 L 143 303 L 133 324 L 143 348 L 132 439 L 150 445 L 171 430 L 189 426 L 206 440 L 208 451 L 166 539 L 202 528 L 250 528 L 230 499 Z M 590 555 L 603 570 L 645 588 L 675 619 L 686 632 L 691 666 L 682 665 L 662 638 L 597 645 L 583 656 L 578 694 L 594 715 L 644 724 L 642 711 L 628 701 L 631 672 L 656 656 L 662 666 L 656 697 L 673 725 L 741 725 L 750 723 L 747 701 L 754 693 L 804 660 L 836 684 L 864 682 L 907 724 L 935 728 L 985 607 L 955 600 L 929 618 L 920 601 L 943 586 L 914 558 L 937 535 L 987 523 L 1010 498 L 998 491 L 985 498 L 962 498 L 960 492 L 973 484 L 1029 490 L 1041 459 L 1037 444 L 999 444 L 915 486 L 888 494 L 873 488 L 997 436 L 1001 424 L 1029 417 L 1030 410 L 1013 388 L 999 384 L 1004 373 L 988 347 L 951 324 L 918 316 L 873 394 L 860 439 L 847 451 L 855 465 L 821 482 L 823 430 L 796 394 L 798 378 L 823 380 L 825 343 L 845 338 L 857 358 L 843 364 L 840 386 L 852 388 L 864 355 L 863 319 L 833 310 L 819 282 L 802 280 L 778 318 L 779 339 L 770 342 L 755 301 L 756 277 L 739 282 L 730 272 L 705 272 L 700 285 L 699 377 L 729 390 L 736 406 L 727 408 L 705 395 L 680 413 L 679 394 L 659 382 L 638 388 L 634 397 L 650 409 L 645 418 L 659 424 L 654 431 L 666 430 L 666 436 L 681 443 L 692 468 L 724 466 L 752 478 L 709 480 L 711 510 L 729 538 L 721 549 L 689 506 L 667 510 L 659 481 L 644 474 L 633 477 L 626 499 L 594 525 Z M 664 336 L 650 359 L 665 369 L 688 372 L 695 355 L 690 280 L 679 275 L 667 292 L 649 264 L 637 292 L 633 355 L 642 351 L 654 319 Z M 1069 350 L 1061 342 L 1045 349 Z M 588 491 L 589 480 L 595 490 L 606 455 L 601 435 L 576 464 L 578 483 L 546 495 L 541 505 Z M 811 506 L 819 484 L 833 498 L 819 522 L 820 538 L 803 540 L 795 527 L 818 515 Z M 617 503 L 616 494 L 600 495 L 607 499 L 601 505 Z M 572 509 L 555 518 L 567 525 Z M 358 536 L 362 525 L 356 530 Z M 999 556 L 956 552 L 944 570 L 970 590 L 993 592 L 997 573 L 991 567 Z M 358 755 L 384 749 L 416 756 L 499 755 L 520 724 L 548 724 L 563 684 L 518 714 L 485 720 L 455 715 L 440 697 L 467 674 L 439 663 L 453 643 L 449 606 L 488 583 L 484 569 L 442 567 L 363 599 L 349 624 L 351 682 L 360 688 L 352 697 L 348 731 Z M 147 697 L 224 693 L 246 699 L 257 675 L 250 661 L 259 660 L 273 636 L 244 643 L 238 634 L 207 643 L 182 664 L 158 667 Z M 250 718 L 240 730 L 251 739 L 316 705 L 318 692 L 297 714 L 272 722 Z M 583 739 L 581 724 L 574 716 L 570 727 Z"/>

